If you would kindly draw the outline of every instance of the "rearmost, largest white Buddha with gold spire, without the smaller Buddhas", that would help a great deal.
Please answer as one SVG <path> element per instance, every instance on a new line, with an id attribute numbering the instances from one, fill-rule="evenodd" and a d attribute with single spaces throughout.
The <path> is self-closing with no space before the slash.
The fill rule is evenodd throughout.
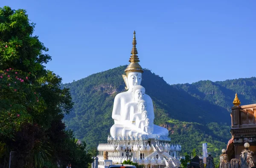
<path id="1" fill-rule="evenodd" d="M 127 103 L 132 103 L 134 102 L 134 97 L 132 96 L 132 91 L 133 88 L 137 85 L 140 85 L 141 80 L 142 80 L 142 73 L 143 70 L 138 63 L 140 60 L 137 56 L 137 48 L 136 48 L 136 37 L 135 37 L 135 31 L 134 31 L 134 39 L 133 39 L 133 48 L 131 50 L 131 57 L 130 57 L 130 64 L 127 66 L 125 69 L 126 75 L 123 75 L 123 79 L 126 84 L 126 89 L 128 91 L 122 92 L 116 95 L 114 99 L 114 104 L 113 104 L 113 112 L 112 112 L 112 118 L 114 120 L 114 125 L 110 129 L 111 136 L 119 136 L 122 134 L 123 128 L 130 128 L 130 129 L 136 129 L 134 128 L 131 124 L 130 121 L 130 114 L 127 114 L 131 111 L 127 110 Z M 145 102 L 147 102 L 147 111 L 148 111 L 148 116 L 150 117 L 150 120 L 153 122 L 154 121 L 154 108 L 153 108 L 153 102 L 151 98 L 147 95 L 144 94 L 143 99 Z M 133 114 L 135 114 L 138 111 L 138 109 L 134 109 Z M 138 131 L 140 131 L 139 128 L 137 128 Z M 168 130 L 166 128 L 154 125 L 153 128 L 154 133 L 158 135 L 168 135 Z M 126 133 L 125 133 L 126 134 Z M 125 135 L 127 136 L 127 135 Z"/>

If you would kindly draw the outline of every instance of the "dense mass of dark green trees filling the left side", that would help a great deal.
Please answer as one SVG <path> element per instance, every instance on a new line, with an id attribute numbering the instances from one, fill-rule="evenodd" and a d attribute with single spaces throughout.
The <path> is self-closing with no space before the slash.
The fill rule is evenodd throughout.
<path id="1" fill-rule="evenodd" d="M 15 151 L 16 167 L 56 167 L 92 162 L 62 119 L 73 107 L 61 77 L 46 70 L 48 48 L 33 36 L 23 9 L 0 8 L 0 159 Z"/>

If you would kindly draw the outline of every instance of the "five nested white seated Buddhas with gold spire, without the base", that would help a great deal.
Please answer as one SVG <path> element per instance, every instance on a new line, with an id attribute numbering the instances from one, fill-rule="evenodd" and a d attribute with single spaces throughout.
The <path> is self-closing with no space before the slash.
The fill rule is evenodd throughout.
<path id="1" fill-rule="evenodd" d="M 123 75 L 128 91 L 116 95 L 113 104 L 112 118 L 114 125 L 110 129 L 112 137 L 147 134 L 168 136 L 166 128 L 154 125 L 154 108 L 151 98 L 145 94 L 141 86 L 143 69 L 137 56 L 136 37 L 134 31 L 133 48 L 130 64 Z"/>

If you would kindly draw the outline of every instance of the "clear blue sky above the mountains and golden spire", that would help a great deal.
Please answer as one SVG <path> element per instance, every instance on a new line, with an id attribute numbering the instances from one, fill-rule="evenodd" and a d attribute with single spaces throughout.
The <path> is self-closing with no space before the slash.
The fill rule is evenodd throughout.
<path id="1" fill-rule="evenodd" d="M 169 84 L 255 77 L 255 0 L 5 0 L 26 9 L 63 83 L 128 64 Z M 121 75 L 121 74 L 116 74 Z"/>

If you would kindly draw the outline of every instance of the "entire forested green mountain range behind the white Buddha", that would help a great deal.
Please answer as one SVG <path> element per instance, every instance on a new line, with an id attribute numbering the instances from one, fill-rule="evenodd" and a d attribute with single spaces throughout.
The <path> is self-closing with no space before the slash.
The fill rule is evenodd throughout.
<path id="1" fill-rule="evenodd" d="M 126 66 L 62 85 L 70 88 L 74 102 L 64 122 L 89 148 L 107 140 L 113 125 L 114 97 L 125 91 L 122 74 Z M 153 100 L 154 123 L 169 130 L 172 142 L 180 143 L 183 153 L 195 149 L 194 153 L 201 154 L 202 143 L 208 142 L 212 154 L 221 154 L 231 138 L 230 110 L 236 92 L 242 104 L 256 103 L 255 77 L 169 85 L 163 77 L 144 69 L 141 85 Z"/>

